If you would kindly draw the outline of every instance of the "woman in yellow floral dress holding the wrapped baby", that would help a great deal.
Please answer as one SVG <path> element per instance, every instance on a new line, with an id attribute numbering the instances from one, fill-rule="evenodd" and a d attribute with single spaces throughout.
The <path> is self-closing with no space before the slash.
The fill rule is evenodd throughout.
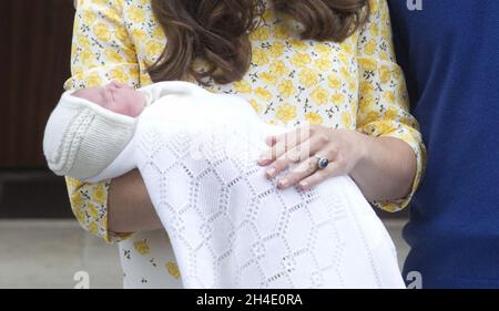
<path id="1" fill-rule="evenodd" d="M 385 1 L 80 0 L 72 51 L 68 90 L 190 80 L 243 96 L 268 123 L 314 124 L 305 135 L 291 129 L 268 139 L 274 152 L 261 165 L 269 177 L 296 158 L 309 167 L 281 188 L 349 174 L 368 199 L 396 211 L 419 184 L 424 147 L 407 111 Z M 310 154 L 294 154 L 307 149 L 301 143 Z M 316 156 L 330 160 L 325 169 Z M 181 286 L 138 172 L 100 184 L 67 180 L 80 224 L 121 241 L 125 287 Z"/>

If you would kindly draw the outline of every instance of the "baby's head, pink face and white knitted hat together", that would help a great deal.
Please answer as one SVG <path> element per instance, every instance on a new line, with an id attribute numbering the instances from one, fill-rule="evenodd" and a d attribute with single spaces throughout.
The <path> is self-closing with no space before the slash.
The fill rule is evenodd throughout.
<path id="1" fill-rule="evenodd" d="M 144 93 L 118 82 L 65 92 L 45 127 L 49 168 L 81 180 L 101 173 L 130 142 L 146 104 Z"/>

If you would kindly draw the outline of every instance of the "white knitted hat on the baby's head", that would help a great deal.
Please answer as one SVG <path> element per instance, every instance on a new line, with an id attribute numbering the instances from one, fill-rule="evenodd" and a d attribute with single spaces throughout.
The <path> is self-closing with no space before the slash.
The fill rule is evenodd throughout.
<path id="1" fill-rule="evenodd" d="M 101 173 L 132 139 L 136 120 L 67 91 L 48 121 L 43 153 L 49 168 L 80 180 Z"/>

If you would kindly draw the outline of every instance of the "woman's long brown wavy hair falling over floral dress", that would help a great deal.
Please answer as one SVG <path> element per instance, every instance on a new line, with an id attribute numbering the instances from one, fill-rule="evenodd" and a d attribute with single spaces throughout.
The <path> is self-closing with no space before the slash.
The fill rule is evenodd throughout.
<path id="1" fill-rule="evenodd" d="M 368 18 L 368 0 L 272 0 L 278 12 L 303 25 L 302 39 L 342 42 Z M 241 80 L 252 59 L 249 33 L 265 11 L 264 0 L 152 0 L 153 13 L 167 37 L 153 81 L 193 76 L 226 84 Z M 194 62 L 203 61 L 203 70 Z"/>

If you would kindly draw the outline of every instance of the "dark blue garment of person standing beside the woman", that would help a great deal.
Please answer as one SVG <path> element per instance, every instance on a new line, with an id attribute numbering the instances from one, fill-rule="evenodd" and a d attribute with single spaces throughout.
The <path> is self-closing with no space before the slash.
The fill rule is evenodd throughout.
<path id="1" fill-rule="evenodd" d="M 388 2 L 428 148 L 404 273 L 424 288 L 499 288 L 499 1 Z"/>

